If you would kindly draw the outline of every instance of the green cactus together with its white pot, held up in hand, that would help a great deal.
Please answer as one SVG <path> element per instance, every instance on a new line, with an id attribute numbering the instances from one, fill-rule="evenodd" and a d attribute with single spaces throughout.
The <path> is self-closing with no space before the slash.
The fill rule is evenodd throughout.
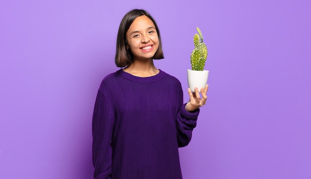
<path id="1" fill-rule="evenodd" d="M 198 33 L 193 37 L 194 49 L 191 53 L 192 70 L 187 70 L 188 86 L 192 92 L 194 92 L 195 87 L 198 87 L 199 92 L 201 88 L 205 88 L 209 74 L 208 70 L 204 70 L 207 47 L 203 42 L 203 35 L 198 27 L 197 31 Z"/>

